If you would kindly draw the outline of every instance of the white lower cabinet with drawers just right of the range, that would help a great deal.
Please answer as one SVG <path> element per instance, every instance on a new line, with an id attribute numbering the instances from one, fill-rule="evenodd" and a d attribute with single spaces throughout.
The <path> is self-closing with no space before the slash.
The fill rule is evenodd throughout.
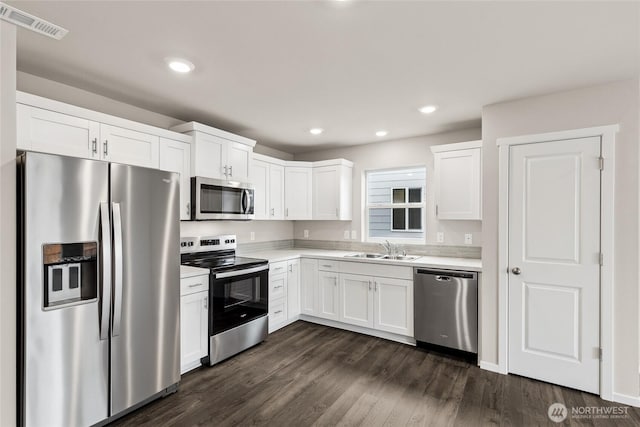
<path id="1" fill-rule="evenodd" d="M 269 265 L 269 333 L 300 315 L 300 260 Z"/>

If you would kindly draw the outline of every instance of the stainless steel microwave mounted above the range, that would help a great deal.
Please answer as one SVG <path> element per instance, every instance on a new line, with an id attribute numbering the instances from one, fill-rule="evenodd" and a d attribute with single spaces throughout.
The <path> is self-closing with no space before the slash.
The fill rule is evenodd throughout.
<path id="1" fill-rule="evenodd" d="M 255 218 L 251 184 L 203 177 L 191 178 L 191 219 L 249 220 Z"/>

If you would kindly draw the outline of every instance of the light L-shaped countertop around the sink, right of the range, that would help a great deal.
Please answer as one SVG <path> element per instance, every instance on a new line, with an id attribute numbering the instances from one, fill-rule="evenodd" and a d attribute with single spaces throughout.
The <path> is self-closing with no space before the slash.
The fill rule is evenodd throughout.
<path id="1" fill-rule="evenodd" d="M 270 263 L 287 261 L 301 256 L 309 258 L 332 259 L 347 262 L 366 262 L 372 264 L 404 265 L 407 267 L 444 268 L 449 270 L 465 270 L 482 272 L 482 261 L 475 258 L 450 258 L 436 256 L 422 256 L 412 261 L 371 259 L 371 258 L 345 258 L 345 255 L 353 255 L 354 251 L 331 251 L 323 249 L 274 249 L 259 252 L 242 253 L 241 256 L 251 258 L 264 258 Z"/>

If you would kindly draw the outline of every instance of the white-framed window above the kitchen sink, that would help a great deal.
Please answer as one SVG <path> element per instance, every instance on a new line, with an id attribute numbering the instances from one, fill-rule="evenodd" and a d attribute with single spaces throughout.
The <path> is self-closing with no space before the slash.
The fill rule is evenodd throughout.
<path id="1" fill-rule="evenodd" d="M 424 242 L 426 168 L 369 171 L 366 181 L 367 240 Z"/>

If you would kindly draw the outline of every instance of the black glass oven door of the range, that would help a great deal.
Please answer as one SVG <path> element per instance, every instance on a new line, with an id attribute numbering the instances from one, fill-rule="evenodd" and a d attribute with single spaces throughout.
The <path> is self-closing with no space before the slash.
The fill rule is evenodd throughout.
<path id="1" fill-rule="evenodd" d="M 209 335 L 233 329 L 269 311 L 269 265 L 218 273 L 209 287 Z"/>

